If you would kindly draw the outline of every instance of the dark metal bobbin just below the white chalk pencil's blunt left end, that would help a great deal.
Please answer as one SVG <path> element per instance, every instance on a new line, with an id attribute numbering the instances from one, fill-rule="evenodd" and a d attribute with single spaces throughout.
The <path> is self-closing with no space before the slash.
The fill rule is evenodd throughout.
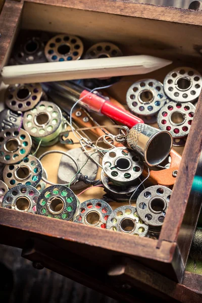
<path id="1" fill-rule="evenodd" d="M 29 111 L 37 105 L 42 96 L 39 83 L 9 85 L 5 94 L 5 103 L 12 111 Z"/>

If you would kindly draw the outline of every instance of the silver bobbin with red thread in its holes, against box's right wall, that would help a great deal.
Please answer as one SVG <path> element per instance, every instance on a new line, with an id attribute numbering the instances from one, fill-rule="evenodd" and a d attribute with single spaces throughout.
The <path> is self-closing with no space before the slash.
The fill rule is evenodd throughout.
<path id="1" fill-rule="evenodd" d="M 157 122 L 161 130 L 167 130 L 173 137 L 187 136 L 191 127 L 195 107 L 190 102 L 169 102 L 159 112 Z"/>

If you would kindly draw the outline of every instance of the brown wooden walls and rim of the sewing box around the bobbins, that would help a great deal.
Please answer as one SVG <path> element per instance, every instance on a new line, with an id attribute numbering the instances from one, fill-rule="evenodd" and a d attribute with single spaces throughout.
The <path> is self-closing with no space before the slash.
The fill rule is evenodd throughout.
<path id="1" fill-rule="evenodd" d="M 8 62 L 21 28 L 67 32 L 82 37 L 86 44 L 108 40 L 117 43 L 125 55 L 171 59 L 173 66 L 146 76 L 162 81 L 175 66 L 202 71 L 202 12 L 110 0 L 6 0 L 0 17 L 1 68 Z M 119 90 L 111 88 L 110 93 L 123 102 L 127 87 L 125 83 Z M 28 238 L 40 238 L 62 248 L 67 259 L 76 256 L 80 275 L 83 269 L 88 277 L 95 277 L 96 269 L 99 282 L 107 276 L 112 262 L 121 257 L 181 282 L 201 206 L 197 198 L 189 198 L 202 147 L 201 103 L 200 95 L 159 240 L 0 208 L 1 243 L 23 248 Z M 71 270 L 69 276 L 79 280 Z"/>

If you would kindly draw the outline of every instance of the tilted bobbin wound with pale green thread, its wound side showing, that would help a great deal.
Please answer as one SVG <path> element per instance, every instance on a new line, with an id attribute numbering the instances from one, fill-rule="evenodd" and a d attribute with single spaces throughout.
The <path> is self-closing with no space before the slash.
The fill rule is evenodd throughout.
<path id="1" fill-rule="evenodd" d="M 52 102 L 41 101 L 23 117 L 23 127 L 37 141 L 43 143 L 58 141 L 58 135 L 64 128 L 61 109 Z M 52 145 L 53 145 L 52 144 Z"/>

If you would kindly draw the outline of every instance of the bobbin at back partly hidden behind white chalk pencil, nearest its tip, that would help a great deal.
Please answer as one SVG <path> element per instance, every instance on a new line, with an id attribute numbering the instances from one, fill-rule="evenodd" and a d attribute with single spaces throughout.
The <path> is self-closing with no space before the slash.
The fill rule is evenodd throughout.
<path id="1" fill-rule="evenodd" d="M 86 51 L 84 59 L 110 58 L 123 56 L 121 49 L 111 42 L 98 42 Z"/>

